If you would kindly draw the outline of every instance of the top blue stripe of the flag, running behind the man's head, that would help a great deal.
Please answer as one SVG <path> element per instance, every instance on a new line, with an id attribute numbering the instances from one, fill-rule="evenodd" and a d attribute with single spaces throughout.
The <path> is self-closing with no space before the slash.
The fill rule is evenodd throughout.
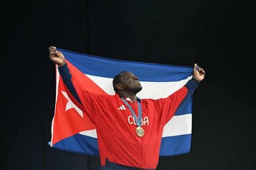
<path id="1" fill-rule="evenodd" d="M 107 59 L 99 56 L 91 56 L 84 53 L 62 51 L 65 59 L 74 64 L 82 73 L 100 77 L 113 78 L 121 71 L 134 73 L 140 81 L 180 81 L 191 76 L 193 67 L 182 67 L 164 64 L 143 62 L 130 62 L 117 59 Z M 174 69 L 170 69 L 174 67 Z M 145 74 L 146 73 L 146 74 Z"/>

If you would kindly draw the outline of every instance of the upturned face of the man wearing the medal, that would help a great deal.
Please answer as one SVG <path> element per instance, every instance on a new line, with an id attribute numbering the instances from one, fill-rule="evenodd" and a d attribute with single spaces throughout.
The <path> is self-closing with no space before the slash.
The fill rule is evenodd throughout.
<path id="1" fill-rule="evenodd" d="M 135 94 L 140 92 L 142 89 L 138 77 L 130 72 L 121 73 L 121 85 L 123 86 L 123 90 L 127 92 L 134 92 Z"/>

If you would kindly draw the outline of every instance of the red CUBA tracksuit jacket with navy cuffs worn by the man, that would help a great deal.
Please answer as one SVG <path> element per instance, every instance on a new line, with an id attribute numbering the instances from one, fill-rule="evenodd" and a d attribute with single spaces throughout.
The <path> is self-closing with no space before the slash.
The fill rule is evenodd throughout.
<path id="1" fill-rule="evenodd" d="M 69 91 L 79 97 L 83 110 L 96 125 L 102 166 L 107 158 L 124 166 L 156 169 L 163 127 L 174 116 L 185 96 L 191 96 L 198 86 L 196 81 L 190 80 L 186 86 L 166 98 L 138 99 L 142 108 L 141 127 L 145 131 L 145 135 L 139 137 L 135 133 L 137 125 L 132 113 L 118 94 L 96 95 L 81 89 L 72 78 L 67 64 L 59 67 L 59 72 Z M 138 117 L 138 103 L 126 100 Z"/>

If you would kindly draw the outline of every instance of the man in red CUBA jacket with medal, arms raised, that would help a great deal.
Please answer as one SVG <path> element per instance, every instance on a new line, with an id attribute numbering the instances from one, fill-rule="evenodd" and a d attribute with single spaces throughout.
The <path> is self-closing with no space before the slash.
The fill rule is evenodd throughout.
<path id="1" fill-rule="evenodd" d="M 141 83 L 129 71 L 113 78 L 115 95 L 96 95 L 77 84 L 61 51 L 54 46 L 49 51 L 49 59 L 58 65 L 74 103 L 80 103 L 96 126 L 102 170 L 156 169 L 163 127 L 180 103 L 191 97 L 205 78 L 205 70 L 194 64 L 193 78 L 177 92 L 158 100 L 139 99 L 136 95 L 141 92 Z M 120 106 L 122 109 L 117 109 Z M 135 123 L 130 123 L 131 117 Z"/>

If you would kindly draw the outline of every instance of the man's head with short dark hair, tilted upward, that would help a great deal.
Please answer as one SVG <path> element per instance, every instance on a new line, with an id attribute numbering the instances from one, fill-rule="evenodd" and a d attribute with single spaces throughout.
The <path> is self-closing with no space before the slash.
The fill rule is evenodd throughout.
<path id="1" fill-rule="evenodd" d="M 119 92 L 128 92 L 136 95 L 141 91 L 142 86 L 137 76 L 129 71 L 122 71 L 115 75 L 113 88 L 118 94 Z"/>

